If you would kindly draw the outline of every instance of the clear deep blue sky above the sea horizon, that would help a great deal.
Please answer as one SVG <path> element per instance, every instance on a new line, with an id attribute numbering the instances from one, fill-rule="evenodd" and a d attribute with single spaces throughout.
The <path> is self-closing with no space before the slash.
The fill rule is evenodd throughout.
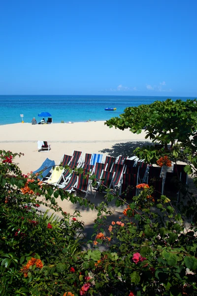
<path id="1" fill-rule="evenodd" d="M 196 0 L 0 3 L 0 94 L 197 96 Z"/>

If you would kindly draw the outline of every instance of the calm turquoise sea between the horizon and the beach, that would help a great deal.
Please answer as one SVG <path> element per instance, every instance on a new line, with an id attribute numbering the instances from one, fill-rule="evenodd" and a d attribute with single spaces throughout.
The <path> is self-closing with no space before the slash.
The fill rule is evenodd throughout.
<path id="1" fill-rule="evenodd" d="M 126 107 L 151 104 L 156 100 L 164 101 L 170 97 L 145 96 L 0 96 L 0 125 L 21 122 L 20 114 L 24 115 L 24 122 L 31 122 L 35 117 L 37 123 L 42 119 L 38 113 L 47 111 L 52 114 L 53 122 L 82 122 L 107 120 L 123 113 Z M 194 99 L 191 97 L 171 97 L 172 100 Z M 104 109 L 116 108 L 116 111 Z"/>

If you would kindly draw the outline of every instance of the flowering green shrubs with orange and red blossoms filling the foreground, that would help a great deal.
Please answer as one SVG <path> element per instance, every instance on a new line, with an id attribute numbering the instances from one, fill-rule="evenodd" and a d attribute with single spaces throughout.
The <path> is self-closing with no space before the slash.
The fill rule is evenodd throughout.
<path id="1" fill-rule="evenodd" d="M 18 154 L 0 155 L 0 295 L 197 295 L 193 196 L 179 204 L 164 195 L 155 201 L 154 188 L 141 184 L 131 203 L 107 190 L 95 206 L 23 176 L 13 162 Z M 2 162 L 5 155 L 11 163 Z M 63 212 L 59 196 L 98 210 L 92 240 L 79 238 L 80 214 Z M 107 208 L 112 200 L 123 207 L 118 216 Z M 49 216 L 43 206 L 60 216 Z"/>

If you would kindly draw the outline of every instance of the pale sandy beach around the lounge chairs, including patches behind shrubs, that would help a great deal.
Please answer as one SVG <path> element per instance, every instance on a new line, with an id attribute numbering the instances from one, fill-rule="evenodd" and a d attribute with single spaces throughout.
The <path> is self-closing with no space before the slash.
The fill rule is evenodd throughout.
<path id="1" fill-rule="evenodd" d="M 145 133 L 132 134 L 129 130 L 121 131 L 109 128 L 104 121 L 78 122 L 73 124 L 55 123 L 44 125 L 32 125 L 30 123 L 17 123 L 0 125 L 0 149 L 12 152 L 23 152 L 25 155 L 17 158 L 16 162 L 24 174 L 40 167 L 46 157 L 55 160 L 58 164 L 63 154 L 71 154 L 73 150 L 84 153 L 103 153 L 103 155 L 118 156 L 120 154 L 131 156 L 133 149 L 145 145 Z M 51 145 L 49 152 L 38 152 L 37 141 L 48 141 Z M 88 195 L 88 199 L 96 204 L 103 200 L 103 194 L 97 198 Z M 85 222 L 87 232 L 94 225 L 97 218 L 96 211 L 79 208 L 67 201 L 59 200 L 64 211 L 72 214 L 79 210 L 82 220 Z M 120 211 L 112 205 L 114 211 Z M 114 212 L 119 217 L 119 213 Z M 110 219 L 115 219 L 112 215 Z"/>

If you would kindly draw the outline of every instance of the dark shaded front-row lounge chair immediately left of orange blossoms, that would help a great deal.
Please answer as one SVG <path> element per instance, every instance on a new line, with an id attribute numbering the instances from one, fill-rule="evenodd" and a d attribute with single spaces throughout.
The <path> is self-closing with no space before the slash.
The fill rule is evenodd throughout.
<path id="1" fill-rule="evenodd" d="M 132 199 L 136 195 L 137 179 L 136 174 L 123 174 L 120 186 L 120 196 L 122 198 Z"/>

